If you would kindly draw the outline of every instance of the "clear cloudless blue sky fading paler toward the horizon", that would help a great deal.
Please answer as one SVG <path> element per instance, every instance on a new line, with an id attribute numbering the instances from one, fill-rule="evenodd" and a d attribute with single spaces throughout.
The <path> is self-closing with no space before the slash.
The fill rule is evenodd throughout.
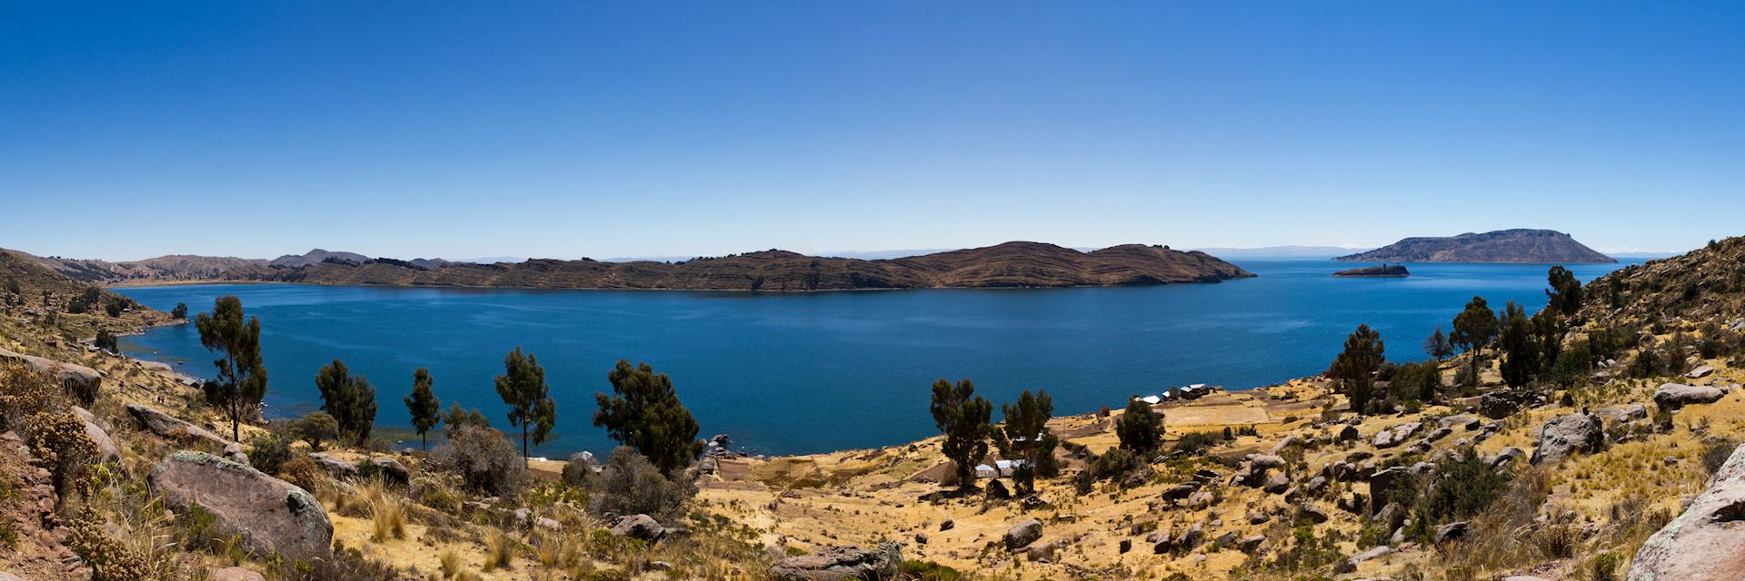
<path id="1" fill-rule="evenodd" d="M 1742 30 L 1736 2 L 7 2 L 0 246 L 1687 249 L 1745 234 Z"/>

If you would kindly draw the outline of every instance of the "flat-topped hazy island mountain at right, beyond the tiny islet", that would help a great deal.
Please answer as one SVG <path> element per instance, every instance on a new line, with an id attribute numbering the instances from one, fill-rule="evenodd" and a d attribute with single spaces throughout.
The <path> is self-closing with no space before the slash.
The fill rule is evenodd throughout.
<path id="1" fill-rule="evenodd" d="M 1604 263 L 1618 262 L 1557 230 L 1495 230 L 1447 237 L 1408 237 L 1345 262 Z"/>

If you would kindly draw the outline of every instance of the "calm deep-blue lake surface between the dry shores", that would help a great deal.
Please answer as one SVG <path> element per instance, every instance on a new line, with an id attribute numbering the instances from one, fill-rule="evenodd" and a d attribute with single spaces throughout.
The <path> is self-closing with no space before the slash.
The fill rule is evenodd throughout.
<path id="1" fill-rule="evenodd" d="M 1640 262 L 1640 260 L 1635 260 Z M 1544 307 L 1548 265 L 1413 263 L 1406 279 L 1337 279 L 1356 263 L 1239 262 L 1260 277 L 1222 284 L 1070 290 L 838 293 L 541 291 L 304 284 L 119 288 L 145 305 L 209 311 L 241 297 L 263 332 L 269 415 L 319 407 L 316 370 L 339 358 L 377 389 L 377 426 L 408 426 L 401 396 L 428 366 L 443 408 L 482 408 L 510 431 L 492 377 L 517 345 L 539 356 L 557 400 L 537 454 L 607 452 L 593 393 L 618 359 L 672 375 L 701 436 L 763 454 L 879 447 L 935 433 L 928 386 L 970 379 L 1010 403 L 1047 389 L 1056 414 L 1122 407 L 1169 386 L 1260 387 L 1326 368 L 1359 323 L 1393 361 L 1424 359 L 1424 337 L 1473 295 Z M 1630 262 L 1626 262 L 1630 263 Z M 1570 267 L 1591 281 L 1618 265 Z M 211 377 L 192 325 L 122 347 Z M 996 407 L 998 410 L 998 407 Z M 412 440 L 415 441 L 415 438 Z"/>

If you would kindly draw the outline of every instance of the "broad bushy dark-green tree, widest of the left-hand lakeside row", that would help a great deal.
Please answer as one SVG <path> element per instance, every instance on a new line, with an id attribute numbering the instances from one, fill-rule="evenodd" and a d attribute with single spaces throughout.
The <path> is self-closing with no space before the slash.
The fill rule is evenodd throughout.
<path id="1" fill-rule="evenodd" d="M 703 454 L 703 443 L 696 440 L 700 426 L 679 403 L 672 377 L 654 373 L 647 363 L 630 366 L 628 359 L 618 359 L 606 380 L 612 384 L 612 394 L 593 394 L 599 405 L 593 426 L 606 427 L 607 436 L 637 448 L 667 475 L 691 466 Z"/>

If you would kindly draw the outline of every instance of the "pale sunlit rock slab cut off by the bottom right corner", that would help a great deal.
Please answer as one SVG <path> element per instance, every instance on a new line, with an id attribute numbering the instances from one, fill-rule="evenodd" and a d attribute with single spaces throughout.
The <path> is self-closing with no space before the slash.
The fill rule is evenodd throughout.
<path id="1" fill-rule="evenodd" d="M 1630 581 L 1738 579 L 1745 571 L 1745 447 L 1733 450 L 1708 489 L 1630 562 Z"/>

